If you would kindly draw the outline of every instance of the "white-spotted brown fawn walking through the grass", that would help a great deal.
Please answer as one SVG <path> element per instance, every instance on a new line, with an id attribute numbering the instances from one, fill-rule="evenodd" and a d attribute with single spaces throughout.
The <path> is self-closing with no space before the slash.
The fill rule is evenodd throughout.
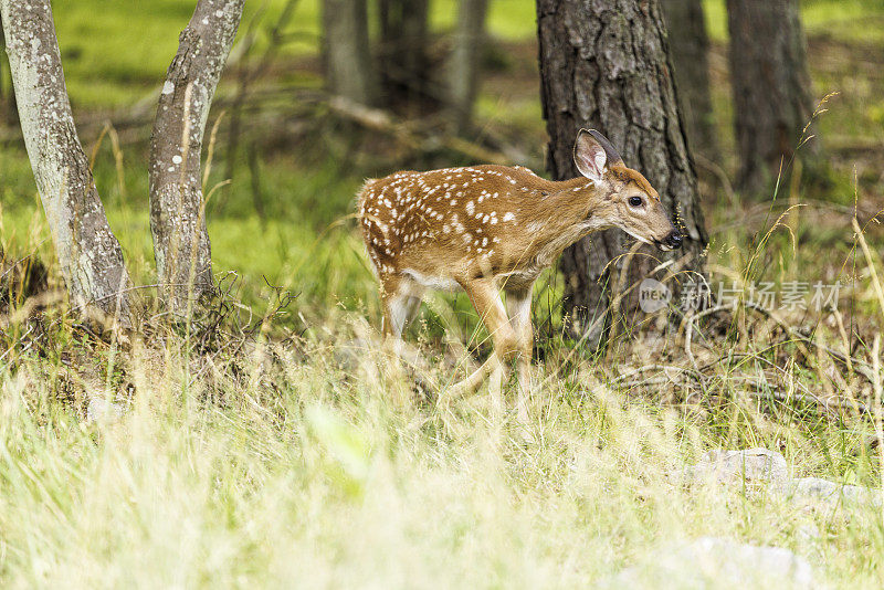
<path id="1" fill-rule="evenodd" d="M 359 219 L 380 281 L 383 334 L 397 350 L 428 288 L 463 288 L 492 336 L 491 358 L 450 389 L 450 397 L 474 391 L 491 376 L 499 408 L 506 362 L 517 357 L 518 418 L 527 420 L 532 287 L 580 238 L 618 226 L 661 250 L 681 246 L 657 192 L 627 168 L 604 136 L 581 129 L 573 159 L 582 177 L 562 182 L 524 167 L 472 166 L 401 171 L 368 180 L 360 190 Z"/>

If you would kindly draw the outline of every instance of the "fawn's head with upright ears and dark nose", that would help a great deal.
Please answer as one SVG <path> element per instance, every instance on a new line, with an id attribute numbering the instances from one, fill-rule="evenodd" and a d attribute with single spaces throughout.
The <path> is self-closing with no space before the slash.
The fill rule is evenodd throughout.
<path id="1" fill-rule="evenodd" d="M 617 226 L 661 250 L 681 247 L 660 196 L 641 172 L 628 168 L 610 141 L 594 129 L 580 129 L 573 146 L 573 161 L 581 175 L 592 180 L 598 203 L 592 209 L 599 226 Z"/>

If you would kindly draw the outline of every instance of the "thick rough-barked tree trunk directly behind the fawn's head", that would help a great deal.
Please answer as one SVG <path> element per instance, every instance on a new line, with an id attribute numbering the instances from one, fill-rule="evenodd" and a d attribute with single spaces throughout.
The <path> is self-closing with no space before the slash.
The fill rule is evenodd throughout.
<path id="1" fill-rule="evenodd" d="M 682 268 L 702 270 L 701 254 L 707 238 L 657 0 L 538 0 L 537 23 L 540 95 L 549 134 L 547 167 L 552 177 L 577 176 L 572 146 L 578 129 L 601 130 L 625 164 L 657 189 L 685 235 L 684 247 L 667 257 L 678 259 L 676 265 Z M 607 230 L 562 254 L 562 305 L 573 335 L 603 343 L 610 325 L 603 319 L 617 301 L 611 286 L 620 284 L 627 260 L 621 254 L 627 252 L 628 242 L 631 240 L 622 231 Z M 645 247 L 648 255 L 632 257 L 622 282 L 624 288 L 660 264 L 661 254 Z M 677 305 L 678 287 L 674 281 L 669 286 Z M 642 317 L 636 307 L 638 289 L 619 303 L 628 323 Z"/>

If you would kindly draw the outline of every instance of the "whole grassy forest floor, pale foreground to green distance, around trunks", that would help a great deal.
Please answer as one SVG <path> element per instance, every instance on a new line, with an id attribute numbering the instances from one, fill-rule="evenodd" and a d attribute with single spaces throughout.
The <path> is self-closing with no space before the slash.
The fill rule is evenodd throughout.
<path id="1" fill-rule="evenodd" d="M 281 6 L 266 4 L 262 27 Z M 59 3 L 56 19 L 112 228 L 136 282 L 152 284 L 150 97 L 189 8 L 134 3 L 151 43 L 126 43 L 109 34 L 126 22 L 109 7 Z M 493 7 L 470 139 L 541 171 L 533 9 Z M 487 352 L 465 296 L 434 297 L 410 330 L 432 361 L 420 386 L 377 346 L 354 193 L 368 176 L 470 158 L 366 133 L 316 101 L 314 1 L 298 8 L 294 49 L 254 84 L 260 108 L 232 167 L 231 98 L 263 36 L 219 93 L 210 185 L 232 183 L 210 202 L 209 230 L 224 294 L 190 330 L 164 325 L 149 292 L 140 335 L 96 334 L 67 313 L 30 166 L 0 127 L 6 261 L 46 267 L 0 293 L 0 584 L 681 588 L 701 587 L 699 569 L 704 587 L 734 587 L 733 568 L 696 557 L 715 537 L 738 571 L 760 576 L 744 587 L 807 587 L 807 565 L 820 586 L 880 588 L 881 493 L 814 496 L 797 478 L 882 489 L 884 9 L 809 3 L 814 95 L 838 93 L 815 120 L 821 156 L 800 157 L 776 199 L 746 200 L 722 178 L 735 169 L 726 44 L 722 8 L 707 7 L 723 157 L 698 169 L 711 283 L 736 304 L 664 337 L 621 334 L 599 355 L 562 334 L 548 273 L 527 431 L 492 420 L 484 392 L 434 404 Z M 98 29 L 106 40 L 93 44 Z M 4 270 L 4 285 L 21 287 L 15 274 Z M 836 282 L 836 308 L 818 309 L 814 285 Z M 776 305 L 746 305 L 764 283 Z M 782 305 L 797 284 L 803 305 Z M 786 471 L 693 476 L 707 451 L 750 447 L 781 453 Z M 794 559 L 740 565 L 740 544 Z"/>

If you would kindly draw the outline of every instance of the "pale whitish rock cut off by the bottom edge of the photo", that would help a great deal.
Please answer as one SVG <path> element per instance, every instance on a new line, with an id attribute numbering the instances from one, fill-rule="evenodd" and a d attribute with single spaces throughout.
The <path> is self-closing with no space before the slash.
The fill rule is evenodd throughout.
<path id="1" fill-rule="evenodd" d="M 810 563 L 788 549 L 757 547 L 718 537 L 661 547 L 599 586 L 654 590 L 824 588 Z"/>

